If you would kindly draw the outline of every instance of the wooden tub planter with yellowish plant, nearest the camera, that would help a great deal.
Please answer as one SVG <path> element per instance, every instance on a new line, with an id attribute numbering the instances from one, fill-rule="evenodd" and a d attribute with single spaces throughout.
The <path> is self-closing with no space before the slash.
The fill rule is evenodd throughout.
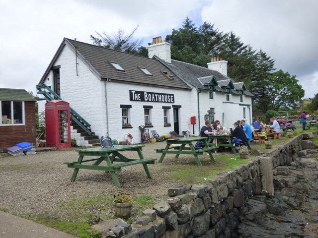
<path id="1" fill-rule="evenodd" d="M 133 198 L 124 192 L 119 192 L 114 195 L 115 216 L 128 218 L 131 215 L 133 206 Z"/>

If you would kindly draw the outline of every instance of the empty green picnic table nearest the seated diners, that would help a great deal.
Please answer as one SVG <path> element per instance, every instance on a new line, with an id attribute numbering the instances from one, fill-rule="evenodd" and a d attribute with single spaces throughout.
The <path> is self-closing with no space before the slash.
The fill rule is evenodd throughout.
<path id="1" fill-rule="evenodd" d="M 201 146 L 203 148 L 195 148 L 192 142 L 200 141 Z M 189 138 L 176 138 L 176 139 L 167 139 L 166 146 L 164 148 L 155 149 L 157 153 L 162 153 L 159 163 L 162 162 L 164 156 L 166 154 L 175 154 L 175 159 L 179 157 L 179 155 L 193 155 L 195 161 L 199 166 L 202 166 L 201 161 L 198 158 L 198 155 L 202 155 L 203 152 L 208 152 L 211 161 L 214 161 L 212 150 L 217 149 L 217 146 L 209 146 L 207 143 L 206 137 L 189 137 Z"/>

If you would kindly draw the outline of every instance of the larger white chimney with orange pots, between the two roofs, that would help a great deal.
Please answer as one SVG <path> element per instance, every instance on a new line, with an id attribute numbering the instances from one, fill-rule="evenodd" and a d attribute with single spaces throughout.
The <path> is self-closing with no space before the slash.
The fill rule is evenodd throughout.
<path id="1" fill-rule="evenodd" d="M 158 56 L 161 60 L 171 63 L 171 44 L 162 42 L 161 36 L 153 38 L 153 44 L 148 46 L 148 57 Z"/>

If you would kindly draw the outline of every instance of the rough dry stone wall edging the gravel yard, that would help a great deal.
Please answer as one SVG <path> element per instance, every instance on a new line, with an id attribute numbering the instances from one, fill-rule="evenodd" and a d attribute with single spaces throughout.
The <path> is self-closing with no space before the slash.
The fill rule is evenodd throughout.
<path id="1" fill-rule="evenodd" d="M 102 234 L 102 237 L 273 237 L 270 232 L 257 230 L 255 224 L 271 221 L 269 218 L 265 219 L 266 211 L 270 211 L 271 214 L 277 211 L 278 216 L 284 209 L 293 205 L 284 205 L 285 207 L 278 205 L 280 202 L 274 197 L 274 181 L 276 183 L 278 181 L 276 186 L 283 186 L 281 197 L 282 193 L 285 195 L 295 193 L 290 188 L 296 184 L 294 177 L 280 179 L 279 176 L 288 177 L 291 172 L 285 166 L 296 165 L 299 155 L 306 157 L 307 153 L 314 150 L 311 138 L 316 134 L 301 134 L 286 145 L 257 156 L 248 164 L 230 172 L 220 173 L 217 179 L 209 179 L 208 184 L 172 186 L 168 189 L 169 198 L 160 201 L 153 209 L 145 210 L 143 216 L 139 217 L 131 227 L 128 224 L 119 224 Z M 298 186 L 302 187 L 299 184 Z M 265 202 L 266 199 L 268 202 Z M 290 218 L 291 223 L 293 219 L 295 218 Z M 286 226 L 286 231 L 280 224 L 281 230 L 284 234 L 299 232 L 299 237 L 310 237 L 302 231 L 306 221 L 299 219 L 297 221 L 297 224 L 293 225 L 294 228 L 293 226 L 291 228 L 290 224 Z M 258 235 L 253 234 L 253 229 L 258 231 Z"/>

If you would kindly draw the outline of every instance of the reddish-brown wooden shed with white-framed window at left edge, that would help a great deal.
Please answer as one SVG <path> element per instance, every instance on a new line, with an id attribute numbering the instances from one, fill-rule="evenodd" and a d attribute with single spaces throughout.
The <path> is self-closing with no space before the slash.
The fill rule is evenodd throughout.
<path id="1" fill-rule="evenodd" d="M 35 102 L 24 89 L 0 88 L 0 152 L 21 142 L 35 146 Z"/>

